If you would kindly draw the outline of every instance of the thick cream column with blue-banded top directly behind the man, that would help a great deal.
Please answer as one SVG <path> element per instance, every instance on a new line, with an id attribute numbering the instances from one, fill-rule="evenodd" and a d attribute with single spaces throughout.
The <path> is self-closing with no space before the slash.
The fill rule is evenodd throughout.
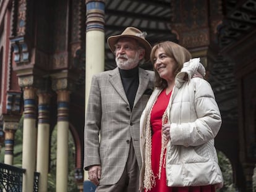
<path id="1" fill-rule="evenodd" d="M 86 67 L 85 102 L 88 98 L 92 75 L 104 71 L 105 64 L 105 0 L 86 0 Z"/>

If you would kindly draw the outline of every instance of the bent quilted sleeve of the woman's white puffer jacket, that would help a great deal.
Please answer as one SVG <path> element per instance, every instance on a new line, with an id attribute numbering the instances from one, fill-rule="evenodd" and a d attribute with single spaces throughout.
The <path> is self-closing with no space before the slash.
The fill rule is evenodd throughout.
<path id="1" fill-rule="evenodd" d="M 212 140 L 221 127 L 221 114 L 210 84 L 202 78 L 193 78 L 194 107 L 197 119 L 191 122 L 171 123 L 171 143 L 198 146 Z"/>

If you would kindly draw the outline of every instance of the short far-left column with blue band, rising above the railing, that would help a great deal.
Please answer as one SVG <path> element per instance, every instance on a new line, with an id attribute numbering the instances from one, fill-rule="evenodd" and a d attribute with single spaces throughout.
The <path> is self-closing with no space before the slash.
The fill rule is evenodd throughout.
<path id="1" fill-rule="evenodd" d="M 4 132 L 5 132 L 5 152 L 4 152 L 4 163 L 13 165 L 14 163 L 14 134 L 18 128 L 18 122 L 4 121 Z"/>

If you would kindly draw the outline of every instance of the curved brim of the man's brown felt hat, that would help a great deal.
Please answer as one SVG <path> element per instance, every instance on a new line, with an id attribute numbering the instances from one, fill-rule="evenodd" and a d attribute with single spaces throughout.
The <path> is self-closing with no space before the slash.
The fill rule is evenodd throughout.
<path id="1" fill-rule="evenodd" d="M 115 47 L 114 45 L 117 43 L 117 41 L 120 38 L 133 38 L 139 42 L 143 48 L 145 48 L 145 62 L 150 61 L 150 52 L 151 52 L 151 45 L 148 43 L 147 40 L 143 40 L 143 38 L 140 38 L 139 36 L 135 35 L 114 35 L 114 36 L 109 36 L 108 38 L 108 46 L 111 49 L 111 51 L 114 53 Z"/>

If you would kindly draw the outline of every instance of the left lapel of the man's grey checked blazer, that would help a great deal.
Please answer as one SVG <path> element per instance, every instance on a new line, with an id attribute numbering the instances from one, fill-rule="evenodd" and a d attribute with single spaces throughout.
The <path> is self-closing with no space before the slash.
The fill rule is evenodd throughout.
<path id="1" fill-rule="evenodd" d="M 109 73 L 109 75 L 111 76 L 109 78 L 109 82 L 111 83 L 111 85 L 113 85 L 114 89 L 121 96 L 121 98 L 124 99 L 127 104 L 129 104 L 129 101 L 126 97 L 126 92 L 124 91 L 124 87 L 122 86 L 122 80 L 118 67 L 116 67 L 116 69 L 114 69 L 112 72 L 113 73 Z"/>

